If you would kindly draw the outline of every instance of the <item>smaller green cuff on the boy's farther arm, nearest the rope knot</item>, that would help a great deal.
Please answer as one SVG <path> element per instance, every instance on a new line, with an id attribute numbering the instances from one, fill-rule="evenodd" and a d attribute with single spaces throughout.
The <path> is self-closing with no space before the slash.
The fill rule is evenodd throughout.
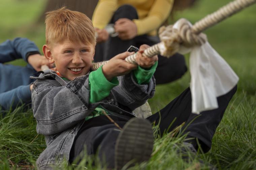
<path id="1" fill-rule="evenodd" d="M 151 68 L 142 68 L 138 66 L 136 70 L 133 70 L 133 75 L 136 82 L 138 84 L 148 84 L 156 71 L 157 63 L 158 62 L 155 62 L 155 64 L 152 65 Z"/>

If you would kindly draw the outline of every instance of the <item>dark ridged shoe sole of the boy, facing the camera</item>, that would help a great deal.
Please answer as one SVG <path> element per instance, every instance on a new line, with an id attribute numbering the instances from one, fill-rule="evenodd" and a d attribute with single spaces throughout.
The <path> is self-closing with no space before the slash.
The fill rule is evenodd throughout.
<path id="1" fill-rule="evenodd" d="M 136 163 L 148 161 L 153 144 L 154 136 L 151 123 L 146 119 L 130 119 L 117 138 L 115 168 L 120 170 L 126 164 L 126 168 L 128 168 Z"/>

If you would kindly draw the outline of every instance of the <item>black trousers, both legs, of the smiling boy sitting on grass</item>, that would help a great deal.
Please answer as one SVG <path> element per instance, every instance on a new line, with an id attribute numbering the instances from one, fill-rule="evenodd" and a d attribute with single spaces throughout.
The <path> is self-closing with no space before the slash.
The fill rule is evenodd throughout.
<path id="1" fill-rule="evenodd" d="M 194 138 L 190 141 L 192 141 L 191 144 L 195 149 L 198 148 L 195 138 L 198 138 L 203 152 L 207 152 L 212 146 L 213 135 L 236 89 L 237 86 L 227 94 L 217 98 L 219 108 L 203 111 L 197 115 L 191 113 L 191 92 L 188 88 L 160 110 L 159 113 L 155 113 L 147 119 L 151 123 L 158 124 L 160 122 L 159 133 L 161 136 L 171 123 L 172 125 L 168 132 L 185 122 L 182 127 L 184 129 L 183 134 L 188 134 L 187 138 Z M 122 115 L 120 117 L 110 117 L 120 127 L 123 127 L 132 118 Z M 173 121 L 174 119 L 175 121 Z M 88 155 L 97 153 L 101 162 L 105 160 L 109 168 L 114 168 L 115 145 L 119 133 L 120 130 L 106 116 L 98 116 L 87 120 L 75 137 L 70 151 L 69 162 L 71 163 L 81 152 L 83 153 L 85 147 Z"/>

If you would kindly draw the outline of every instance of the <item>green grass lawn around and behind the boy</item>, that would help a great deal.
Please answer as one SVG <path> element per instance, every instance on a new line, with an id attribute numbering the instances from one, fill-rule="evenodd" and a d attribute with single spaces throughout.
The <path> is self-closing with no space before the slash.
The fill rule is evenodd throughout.
<path id="1" fill-rule="evenodd" d="M 0 42 L 14 37 L 28 37 L 41 49 L 44 44 L 44 26 L 35 24 L 44 8 L 43 0 L 1 0 Z M 187 18 L 192 23 L 209 14 L 228 0 L 201 0 L 182 12 L 176 12 L 174 20 Z M 238 90 L 231 100 L 222 122 L 213 138 L 212 149 L 200 154 L 205 163 L 218 169 L 256 169 L 256 5 L 215 25 L 205 31 L 210 44 L 230 64 L 239 76 Z M 173 22 L 170 20 L 170 22 Z M 186 55 L 188 63 L 189 55 Z M 24 65 L 24 62 L 14 64 Z M 149 100 L 152 111 L 157 112 L 189 86 L 187 72 L 173 83 L 158 85 L 156 95 Z M 156 128 L 156 127 L 155 127 Z M 198 159 L 191 156 L 190 163 L 184 162 L 175 152 L 184 137 L 158 137 L 154 144 L 154 155 L 148 164 L 132 169 L 207 169 L 197 168 Z M 33 168 L 39 154 L 45 148 L 42 135 L 36 134 L 36 121 L 31 110 L 19 107 L 0 118 L 0 169 Z M 90 160 L 87 158 L 87 160 Z M 83 165 L 67 169 L 85 169 Z M 88 169 L 101 169 L 91 167 Z"/>

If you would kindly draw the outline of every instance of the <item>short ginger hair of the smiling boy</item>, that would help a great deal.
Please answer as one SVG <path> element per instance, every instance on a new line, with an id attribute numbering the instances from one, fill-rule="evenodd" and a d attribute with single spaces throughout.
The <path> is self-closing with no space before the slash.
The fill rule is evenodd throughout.
<path id="1" fill-rule="evenodd" d="M 84 44 L 96 44 L 92 21 L 83 13 L 62 7 L 46 13 L 46 44 L 60 43 L 65 39 L 71 42 L 81 41 Z"/>

